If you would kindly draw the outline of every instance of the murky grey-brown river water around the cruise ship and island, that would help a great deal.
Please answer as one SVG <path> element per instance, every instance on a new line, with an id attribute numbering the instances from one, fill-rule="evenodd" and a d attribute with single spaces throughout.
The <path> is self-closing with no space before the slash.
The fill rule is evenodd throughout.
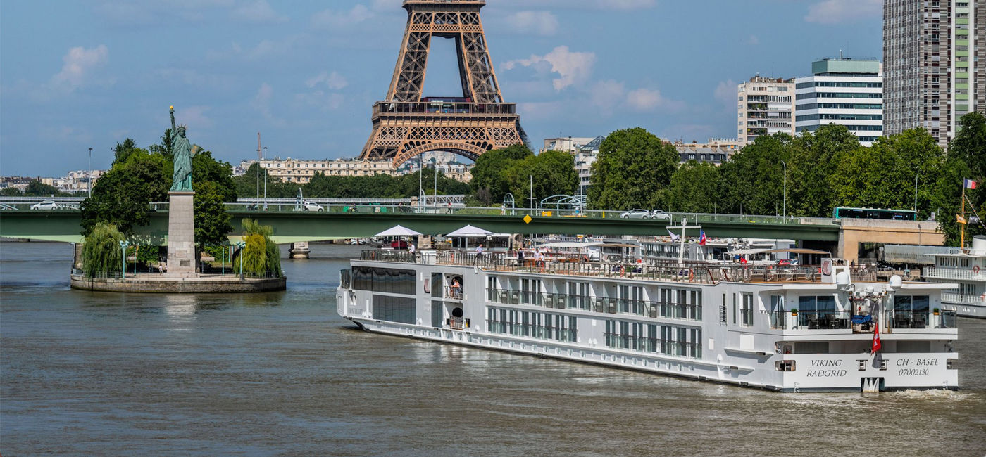
<path id="1" fill-rule="evenodd" d="M 0 243 L 0 454 L 986 454 L 986 321 L 962 390 L 782 394 L 373 335 L 335 314 L 357 246 L 288 292 L 96 294 L 71 248 Z"/>

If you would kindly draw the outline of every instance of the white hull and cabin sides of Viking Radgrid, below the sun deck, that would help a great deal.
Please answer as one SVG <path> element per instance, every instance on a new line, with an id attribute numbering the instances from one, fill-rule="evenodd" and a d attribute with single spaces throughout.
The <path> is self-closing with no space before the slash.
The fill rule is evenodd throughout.
<path id="1" fill-rule="evenodd" d="M 731 306 L 731 300 L 720 302 L 721 297 L 730 295 L 732 299 L 736 294 L 757 298 L 770 294 L 794 296 L 805 291 L 826 294 L 819 291 L 834 289 L 835 285 L 827 285 L 831 286 L 827 288 L 826 285 L 811 284 L 801 286 L 803 290 L 799 290 L 798 285 L 663 283 L 629 277 L 596 279 L 420 263 L 353 261 L 353 266 L 414 272 L 417 287 L 414 291 L 403 291 L 404 294 L 365 291 L 356 285 L 345 287 L 347 282 L 343 282 L 344 286 L 336 294 L 338 313 L 370 332 L 784 392 L 958 387 L 957 369 L 954 369 L 958 356 L 951 351 L 957 331 L 953 323 L 938 313 L 922 315 L 924 328 L 892 328 L 893 322 L 886 322 L 887 328 L 880 332 L 883 349 L 870 354 L 873 334 L 854 333 L 838 319 L 833 319 L 828 326 L 843 328 L 806 328 L 816 323 L 804 316 L 792 316 L 787 310 L 778 314 L 754 308 L 744 313 L 749 318 L 748 325 L 744 325 L 734 320 L 737 308 Z M 434 284 L 440 284 L 444 289 L 438 296 L 426 292 L 430 288 L 422 287 L 426 283 L 431 285 L 432 278 L 437 279 Z M 460 279 L 460 292 L 448 289 L 453 278 Z M 657 294 L 660 289 L 674 287 L 687 291 L 680 296 L 696 296 L 690 295 L 695 292 L 705 298 L 700 299 L 701 302 L 684 304 L 694 307 L 675 316 L 670 312 L 655 312 L 653 308 L 636 313 L 629 306 L 621 310 L 621 303 L 603 302 L 599 307 L 599 303 L 594 302 L 589 306 L 571 307 L 571 303 L 562 302 L 570 300 L 570 296 L 559 300 L 557 296 L 546 294 L 543 299 L 528 295 L 530 299 L 526 300 L 523 296 L 518 297 L 515 291 L 499 294 L 504 291 L 484 288 L 501 284 L 498 283 L 501 281 L 513 285 L 515 280 L 539 281 L 537 284 L 541 288 L 549 282 L 554 286 L 577 282 L 587 284 L 587 290 L 598 291 L 621 286 L 639 287 L 646 294 Z M 914 287 L 908 285 L 906 288 Z M 920 294 L 935 297 L 938 290 L 920 291 Z M 378 312 L 375 312 L 375 300 L 379 300 L 381 306 L 393 300 L 407 303 L 412 302 L 407 300 L 413 300 L 413 317 L 402 317 L 406 322 L 381 319 L 375 314 L 383 312 L 383 307 L 376 308 Z M 408 311 L 408 316 L 410 314 Z M 501 319 L 501 315 L 512 317 Z M 530 322 L 546 319 L 550 328 L 545 331 L 548 327 L 522 323 L 528 322 L 528 318 Z M 912 325 L 913 321 L 908 324 Z M 621 326 L 624 329 L 650 326 L 660 328 L 662 332 L 668 329 L 668 332 L 662 333 L 660 338 L 614 334 Z"/>

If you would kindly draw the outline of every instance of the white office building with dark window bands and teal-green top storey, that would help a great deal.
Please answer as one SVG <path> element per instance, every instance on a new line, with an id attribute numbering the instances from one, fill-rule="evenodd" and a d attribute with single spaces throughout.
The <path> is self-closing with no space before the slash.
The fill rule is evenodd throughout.
<path id="1" fill-rule="evenodd" d="M 795 79 L 795 131 L 845 125 L 870 146 L 883 134 L 883 84 L 879 60 L 822 59 L 811 76 Z"/>

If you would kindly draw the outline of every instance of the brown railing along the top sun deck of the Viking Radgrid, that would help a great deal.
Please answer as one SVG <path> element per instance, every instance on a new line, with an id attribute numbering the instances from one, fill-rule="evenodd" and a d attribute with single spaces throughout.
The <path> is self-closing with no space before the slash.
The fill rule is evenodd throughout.
<path id="1" fill-rule="evenodd" d="M 477 254 L 471 251 L 442 250 L 407 252 L 386 249 L 364 250 L 360 260 L 455 265 L 507 273 L 541 273 L 595 278 L 623 278 L 693 284 L 735 283 L 819 283 L 816 266 L 742 265 L 716 262 L 676 262 L 654 259 L 627 259 L 625 262 L 599 262 L 579 256 L 553 256 L 543 261 L 519 259 L 515 252 Z M 854 267 L 856 281 L 876 281 L 877 271 Z"/>

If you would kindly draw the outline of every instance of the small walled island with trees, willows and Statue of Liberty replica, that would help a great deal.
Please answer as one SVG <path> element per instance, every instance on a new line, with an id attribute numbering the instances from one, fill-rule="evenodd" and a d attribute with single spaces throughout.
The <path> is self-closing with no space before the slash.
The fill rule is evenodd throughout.
<path id="1" fill-rule="evenodd" d="M 75 250 L 72 289 L 166 294 L 285 290 L 272 230 L 246 219 L 242 234 L 232 234 L 224 205 L 233 191 L 230 164 L 192 145 L 185 136 L 187 127 L 176 125 L 174 106 L 170 112 L 172 127 L 160 145 L 144 150 L 129 139 L 116 145 L 112 167 L 82 203 L 85 238 Z M 200 173 L 198 192 L 192 189 L 193 170 Z M 167 205 L 155 204 L 165 198 Z M 151 212 L 165 211 L 167 233 L 136 234 L 134 229 L 146 226 Z"/>

